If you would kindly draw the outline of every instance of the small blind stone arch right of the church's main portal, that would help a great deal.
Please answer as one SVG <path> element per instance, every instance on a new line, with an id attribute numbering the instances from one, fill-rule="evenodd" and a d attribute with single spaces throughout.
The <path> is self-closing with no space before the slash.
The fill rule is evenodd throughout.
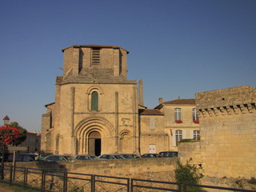
<path id="1" fill-rule="evenodd" d="M 132 148 L 132 136 L 130 130 L 122 130 L 119 134 L 119 150 L 122 154 L 131 154 Z"/>

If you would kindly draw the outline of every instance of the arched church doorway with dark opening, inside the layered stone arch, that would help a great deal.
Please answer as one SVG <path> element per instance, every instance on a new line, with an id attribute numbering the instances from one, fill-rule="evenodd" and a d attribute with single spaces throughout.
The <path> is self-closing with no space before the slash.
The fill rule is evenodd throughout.
<path id="1" fill-rule="evenodd" d="M 102 138 L 98 131 L 92 131 L 88 137 L 88 152 L 89 155 L 100 155 L 102 152 Z"/>

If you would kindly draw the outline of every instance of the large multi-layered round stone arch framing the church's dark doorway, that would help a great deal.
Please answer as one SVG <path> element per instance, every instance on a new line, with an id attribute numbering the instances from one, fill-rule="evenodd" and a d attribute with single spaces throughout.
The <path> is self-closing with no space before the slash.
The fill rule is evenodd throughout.
<path id="1" fill-rule="evenodd" d="M 114 152 L 114 126 L 106 118 L 91 117 L 84 118 L 74 129 L 76 154 L 89 153 L 89 135 L 94 131 L 101 135 L 102 153 Z"/>

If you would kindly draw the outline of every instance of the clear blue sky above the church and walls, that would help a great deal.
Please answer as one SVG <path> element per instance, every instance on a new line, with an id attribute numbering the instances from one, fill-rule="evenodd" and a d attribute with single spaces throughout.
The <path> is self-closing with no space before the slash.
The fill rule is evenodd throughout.
<path id="1" fill-rule="evenodd" d="M 144 104 L 256 85 L 255 0 L 0 0 L 0 125 L 7 114 L 41 130 L 54 102 L 62 49 L 129 50 L 128 78 L 143 79 Z"/>

